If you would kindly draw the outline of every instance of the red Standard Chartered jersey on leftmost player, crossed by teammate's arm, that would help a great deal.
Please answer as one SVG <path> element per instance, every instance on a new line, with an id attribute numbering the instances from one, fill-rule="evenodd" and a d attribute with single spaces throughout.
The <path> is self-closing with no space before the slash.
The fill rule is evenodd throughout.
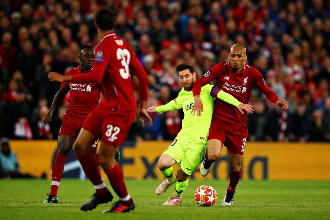
<path id="1" fill-rule="evenodd" d="M 65 76 L 80 76 L 88 72 L 90 70 L 82 73 L 80 67 L 76 67 L 66 72 Z M 62 82 L 61 86 L 63 89 L 70 89 L 69 107 L 65 113 L 78 122 L 83 122 L 100 101 L 100 85 L 96 82 Z"/>

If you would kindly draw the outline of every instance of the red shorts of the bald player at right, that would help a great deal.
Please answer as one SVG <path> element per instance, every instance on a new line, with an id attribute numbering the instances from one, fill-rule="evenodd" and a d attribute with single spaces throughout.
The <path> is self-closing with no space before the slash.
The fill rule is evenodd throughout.
<path id="1" fill-rule="evenodd" d="M 216 139 L 227 147 L 229 153 L 244 153 L 248 129 L 222 120 L 212 120 L 208 140 Z"/>

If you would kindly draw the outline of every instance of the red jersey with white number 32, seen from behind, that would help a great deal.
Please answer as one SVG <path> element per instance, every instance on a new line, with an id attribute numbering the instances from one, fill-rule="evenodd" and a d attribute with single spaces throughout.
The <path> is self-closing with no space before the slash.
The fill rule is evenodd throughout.
<path id="1" fill-rule="evenodd" d="M 129 70 L 139 79 L 140 100 L 147 100 L 148 77 L 132 48 L 115 33 L 105 35 L 95 49 L 95 62 L 89 74 L 75 75 L 72 82 L 101 82 L 100 106 L 111 110 L 136 110 Z"/>

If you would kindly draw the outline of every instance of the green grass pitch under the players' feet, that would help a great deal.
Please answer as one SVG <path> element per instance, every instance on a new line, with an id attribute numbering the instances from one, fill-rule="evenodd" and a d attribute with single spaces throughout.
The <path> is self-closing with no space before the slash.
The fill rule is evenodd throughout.
<path id="1" fill-rule="evenodd" d="M 47 198 L 45 192 L 50 190 L 49 180 L 0 180 L 0 219 L 330 219 L 330 181 L 241 180 L 232 206 L 221 205 L 228 181 L 189 180 L 182 203 L 177 206 L 162 205 L 173 193 L 174 186 L 158 196 L 155 189 L 160 182 L 126 180 L 135 210 L 103 214 L 111 204 L 101 204 L 91 212 L 80 210 L 94 193 L 88 180 L 62 179 L 58 204 L 42 203 Z M 108 181 L 106 184 L 110 185 Z M 201 207 L 194 200 L 195 189 L 203 184 L 217 191 L 217 201 L 211 207 Z"/>

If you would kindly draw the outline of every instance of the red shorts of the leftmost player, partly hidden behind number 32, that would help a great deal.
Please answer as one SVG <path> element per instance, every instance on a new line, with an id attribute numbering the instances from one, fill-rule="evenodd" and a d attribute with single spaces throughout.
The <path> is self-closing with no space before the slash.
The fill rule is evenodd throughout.
<path id="1" fill-rule="evenodd" d="M 80 129 L 82 128 L 82 124 L 83 121 L 74 122 L 74 120 L 70 116 L 65 114 L 58 136 L 68 135 L 77 138 Z M 95 143 L 93 143 L 93 145 L 91 146 L 91 149 L 96 150 L 98 143 L 99 140 L 97 139 L 97 141 L 95 141 Z"/>

